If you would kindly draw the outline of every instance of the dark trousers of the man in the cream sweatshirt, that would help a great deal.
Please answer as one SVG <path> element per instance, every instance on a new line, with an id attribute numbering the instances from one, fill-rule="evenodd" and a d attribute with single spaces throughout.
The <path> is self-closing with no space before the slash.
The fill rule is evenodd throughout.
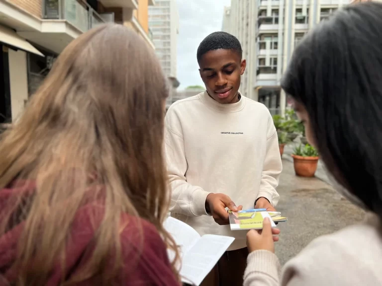
<path id="1" fill-rule="evenodd" d="M 226 251 L 200 286 L 243 286 L 247 247 Z"/>

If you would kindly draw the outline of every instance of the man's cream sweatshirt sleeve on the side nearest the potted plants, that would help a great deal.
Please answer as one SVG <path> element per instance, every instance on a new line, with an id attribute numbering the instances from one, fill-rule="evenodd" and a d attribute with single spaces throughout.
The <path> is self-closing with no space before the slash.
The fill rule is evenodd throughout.
<path id="1" fill-rule="evenodd" d="M 272 206 L 275 207 L 277 205 L 280 196 L 276 191 L 276 187 L 279 184 L 279 177 L 282 170 L 283 163 L 280 156 L 279 139 L 272 116 L 269 114 L 267 148 L 260 181 L 260 190 L 256 199 L 264 197 Z"/>

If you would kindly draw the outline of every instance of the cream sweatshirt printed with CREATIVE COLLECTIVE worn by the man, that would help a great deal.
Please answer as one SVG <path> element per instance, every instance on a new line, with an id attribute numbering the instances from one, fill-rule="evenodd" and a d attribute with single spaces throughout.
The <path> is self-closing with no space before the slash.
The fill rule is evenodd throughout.
<path id="1" fill-rule="evenodd" d="M 269 110 L 244 96 L 219 104 L 203 92 L 174 103 L 165 126 L 171 216 L 200 235 L 235 237 L 229 250 L 246 247 L 246 231 L 218 225 L 204 204 L 209 193 L 223 193 L 243 209 L 260 197 L 276 206 L 282 162 Z"/>

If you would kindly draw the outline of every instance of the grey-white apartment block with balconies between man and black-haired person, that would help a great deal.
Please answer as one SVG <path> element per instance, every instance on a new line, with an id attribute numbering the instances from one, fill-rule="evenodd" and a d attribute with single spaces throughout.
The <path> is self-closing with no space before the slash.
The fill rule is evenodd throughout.
<path id="1" fill-rule="evenodd" d="M 223 27 L 229 27 L 225 28 L 227 32 L 240 40 L 247 59 L 242 93 L 264 103 L 271 113 L 284 114 L 286 94 L 280 79 L 294 47 L 309 29 L 349 2 L 231 0 L 230 15 L 224 15 Z"/>

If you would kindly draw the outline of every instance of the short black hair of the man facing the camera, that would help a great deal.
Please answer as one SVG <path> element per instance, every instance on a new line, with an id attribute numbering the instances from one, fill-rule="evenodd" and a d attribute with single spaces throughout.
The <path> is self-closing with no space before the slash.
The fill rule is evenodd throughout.
<path id="1" fill-rule="evenodd" d="M 207 52 L 218 49 L 233 50 L 239 54 L 240 59 L 243 55 L 240 42 L 235 36 L 226 32 L 213 32 L 205 37 L 197 48 L 197 62 L 199 62 L 201 57 Z"/>

